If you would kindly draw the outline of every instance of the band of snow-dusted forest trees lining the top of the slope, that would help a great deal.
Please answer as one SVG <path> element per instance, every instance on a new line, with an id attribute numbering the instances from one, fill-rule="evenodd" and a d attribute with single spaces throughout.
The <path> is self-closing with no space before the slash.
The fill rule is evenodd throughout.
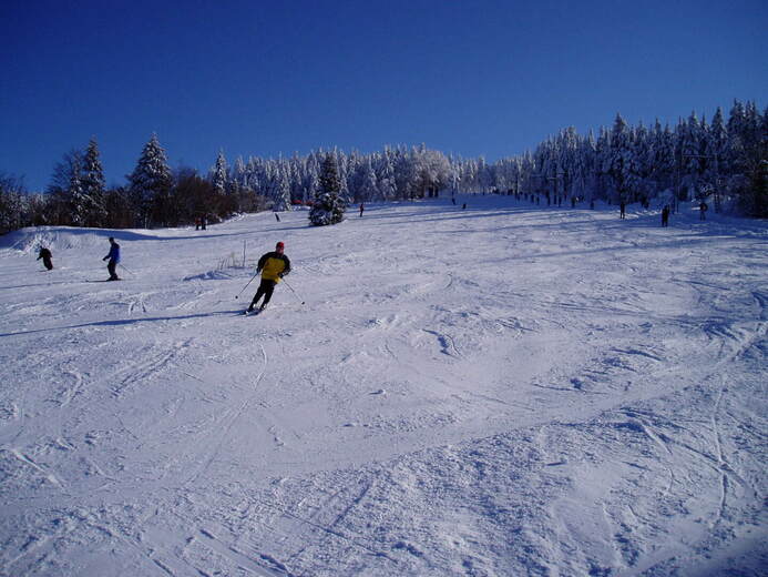
<path id="1" fill-rule="evenodd" d="M 328 161 L 330 159 L 330 161 Z M 664 202 L 711 198 L 716 210 L 768 217 L 768 109 L 735 100 L 710 122 L 695 112 L 676 126 L 629 125 L 616 114 L 597 135 L 575 128 L 533 151 L 488 163 L 420 146 L 385 146 L 361 154 L 313 151 L 289 158 L 238 158 L 223 152 L 207 174 L 172 170 L 156 134 L 125 185 L 105 185 L 95 139 L 57 163 L 44 193 L 0 174 L 0 233 L 28 225 L 150 227 L 214 222 L 239 212 L 287 211 L 322 194 L 322 164 L 332 162 L 345 203 L 438 196 L 441 191 L 529 194 L 585 201 Z"/>

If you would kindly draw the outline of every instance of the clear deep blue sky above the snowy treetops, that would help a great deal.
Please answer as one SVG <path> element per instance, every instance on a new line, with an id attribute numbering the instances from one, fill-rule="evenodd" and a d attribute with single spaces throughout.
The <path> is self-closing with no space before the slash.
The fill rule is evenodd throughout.
<path id="1" fill-rule="evenodd" d="M 41 190 L 95 135 L 172 166 L 426 143 L 489 161 L 562 128 L 768 94 L 768 2 L 85 1 L 0 6 L 0 172 Z"/>

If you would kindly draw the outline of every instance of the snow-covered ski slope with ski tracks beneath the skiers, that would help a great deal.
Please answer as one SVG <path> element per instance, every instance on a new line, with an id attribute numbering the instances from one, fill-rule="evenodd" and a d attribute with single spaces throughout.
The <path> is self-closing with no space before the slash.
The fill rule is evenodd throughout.
<path id="1" fill-rule="evenodd" d="M 366 207 L 0 237 L 0 575 L 765 575 L 765 222 Z"/>

